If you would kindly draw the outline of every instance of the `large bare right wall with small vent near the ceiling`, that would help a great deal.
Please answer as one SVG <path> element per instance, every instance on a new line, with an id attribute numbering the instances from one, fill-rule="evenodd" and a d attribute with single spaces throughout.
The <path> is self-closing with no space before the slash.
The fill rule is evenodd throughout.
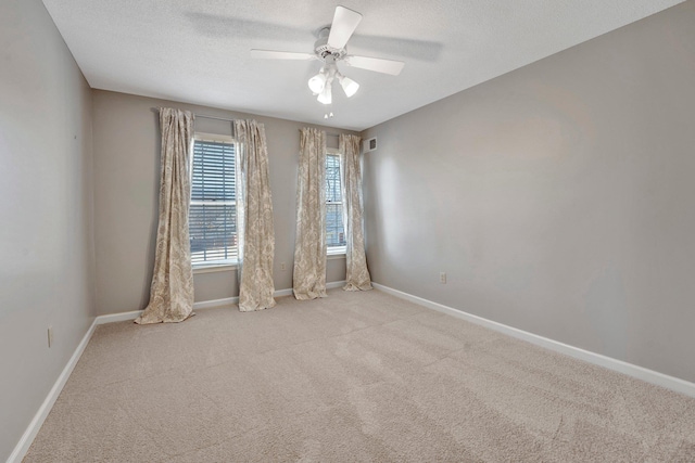
<path id="1" fill-rule="evenodd" d="M 363 132 L 374 280 L 695 381 L 694 25 L 688 1 Z"/>

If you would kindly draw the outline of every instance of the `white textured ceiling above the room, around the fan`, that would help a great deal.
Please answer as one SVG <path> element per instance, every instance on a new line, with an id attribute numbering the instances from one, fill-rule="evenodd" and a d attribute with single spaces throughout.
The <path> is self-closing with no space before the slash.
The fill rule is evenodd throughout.
<path id="1" fill-rule="evenodd" d="M 43 0 L 92 88 L 362 130 L 683 0 Z M 350 54 L 405 61 L 397 76 L 339 67 L 332 119 L 307 79 L 336 5 L 364 18 Z"/>

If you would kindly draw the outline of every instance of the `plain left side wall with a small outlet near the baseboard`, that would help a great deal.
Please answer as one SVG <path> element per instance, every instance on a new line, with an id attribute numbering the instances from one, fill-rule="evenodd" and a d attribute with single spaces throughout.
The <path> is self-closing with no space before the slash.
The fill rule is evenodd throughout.
<path id="1" fill-rule="evenodd" d="M 0 461 L 94 318 L 90 111 L 43 4 L 0 2 Z"/>

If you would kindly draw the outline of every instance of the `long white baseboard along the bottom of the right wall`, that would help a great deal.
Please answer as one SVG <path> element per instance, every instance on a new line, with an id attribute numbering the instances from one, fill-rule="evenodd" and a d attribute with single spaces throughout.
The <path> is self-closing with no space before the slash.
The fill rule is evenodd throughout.
<path id="1" fill-rule="evenodd" d="M 442 313 L 446 313 L 456 317 L 462 320 L 469 321 L 471 323 L 485 326 L 490 330 L 494 330 L 500 333 L 516 337 L 521 340 L 534 344 L 536 346 L 544 347 L 549 350 L 554 350 L 559 353 L 564 353 L 569 357 L 573 357 L 579 360 L 583 360 L 589 363 L 593 363 L 599 366 L 607 368 L 609 370 L 617 371 L 628 376 L 642 380 L 644 382 L 655 384 L 657 386 L 665 387 L 667 389 L 674 390 L 677 393 L 684 394 L 690 397 L 695 397 L 695 384 L 681 380 L 674 376 L 669 376 L 664 373 L 656 372 L 654 370 L 645 369 L 632 363 L 617 360 L 611 357 L 606 357 L 601 353 L 591 352 L 589 350 L 581 349 L 579 347 L 570 346 L 557 340 L 549 339 L 547 337 L 539 336 L 538 334 L 529 333 L 523 330 L 511 327 L 502 323 L 494 322 L 492 320 L 483 319 L 482 317 L 466 313 L 462 310 L 454 309 L 442 304 L 433 303 L 431 300 L 414 296 L 412 294 L 404 293 L 402 291 L 393 290 L 392 287 L 384 286 L 378 283 L 371 283 L 374 287 L 384 293 L 389 293 L 393 296 L 400 297 L 405 300 L 409 300 L 428 309 L 437 310 Z"/>

